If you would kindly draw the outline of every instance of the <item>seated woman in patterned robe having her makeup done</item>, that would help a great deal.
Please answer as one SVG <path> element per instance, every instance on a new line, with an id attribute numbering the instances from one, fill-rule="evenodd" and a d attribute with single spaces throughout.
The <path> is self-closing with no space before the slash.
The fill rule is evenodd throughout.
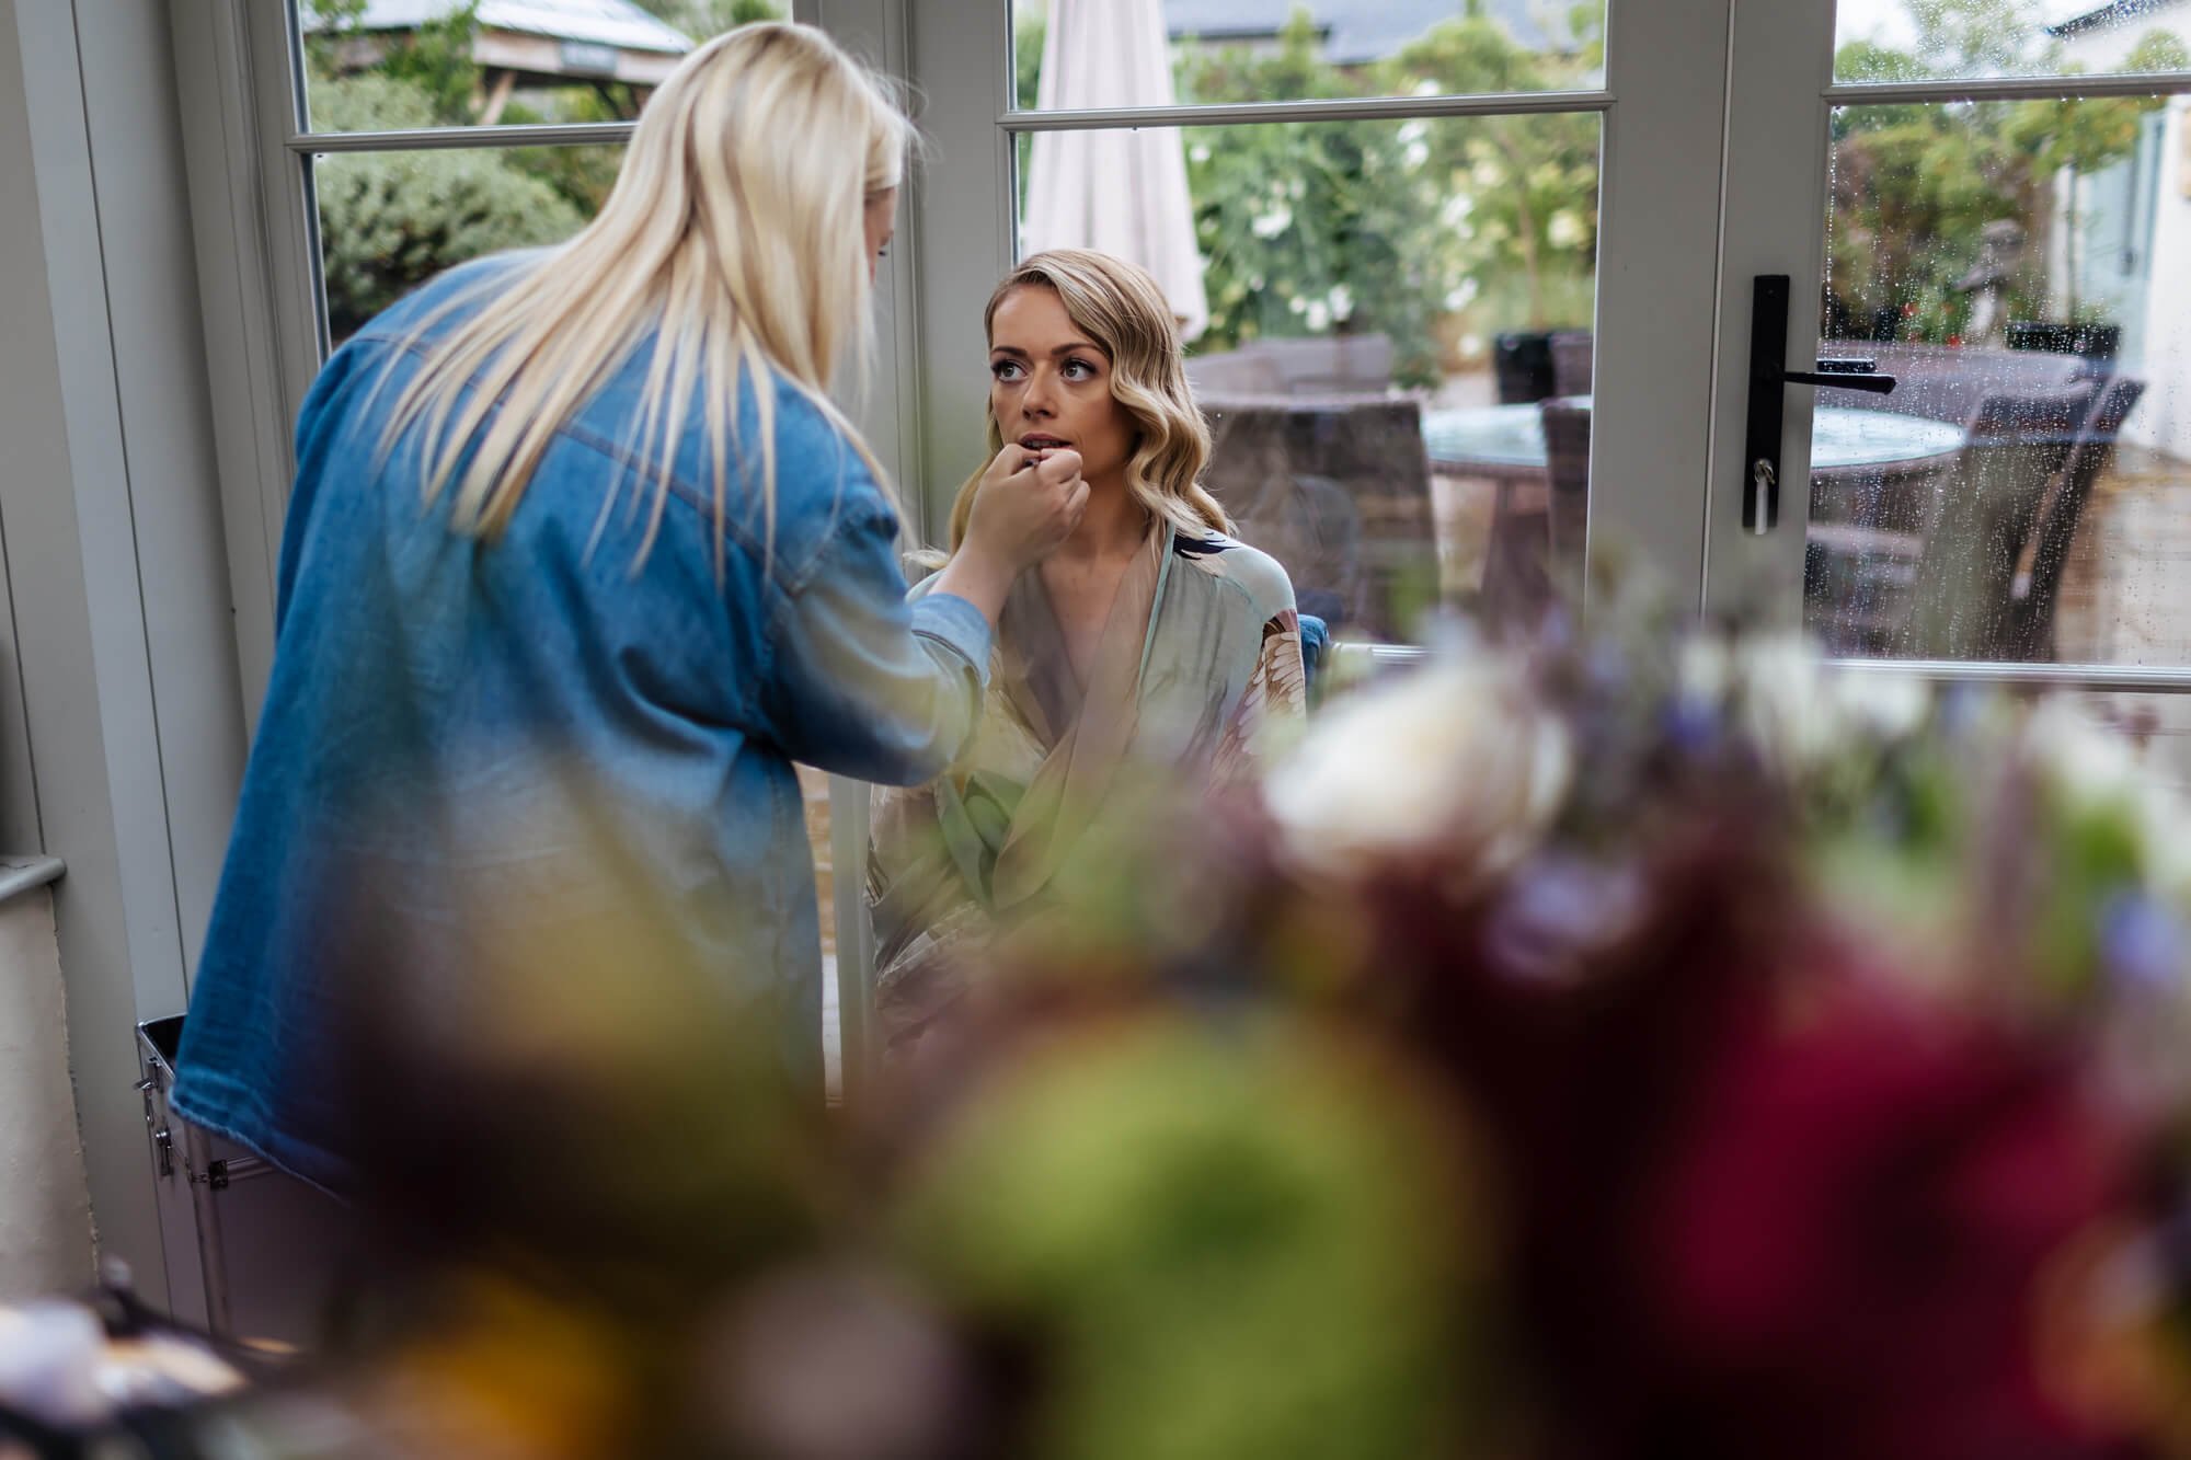
<path id="1" fill-rule="evenodd" d="M 1209 427 L 1155 278 L 1106 254 L 1034 254 L 997 285 L 986 327 L 995 460 L 960 489 L 953 552 L 984 482 L 1078 471 L 1087 513 L 1012 585 L 962 758 L 874 794 L 868 903 L 894 1052 L 962 993 L 953 954 L 1043 908 L 1124 765 L 1223 785 L 1269 721 L 1304 712 L 1293 585 L 1201 487 Z"/>

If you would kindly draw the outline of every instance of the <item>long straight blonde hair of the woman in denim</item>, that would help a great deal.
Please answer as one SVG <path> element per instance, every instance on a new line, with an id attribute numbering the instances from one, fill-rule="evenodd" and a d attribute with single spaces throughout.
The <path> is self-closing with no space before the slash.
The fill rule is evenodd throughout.
<path id="1" fill-rule="evenodd" d="M 662 526 L 688 406 L 706 381 L 721 572 L 741 373 L 752 377 L 773 550 L 771 366 L 883 476 L 826 392 L 848 344 L 861 379 L 870 368 L 865 206 L 898 186 L 909 140 L 885 83 L 822 31 L 749 24 L 719 35 L 640 114 L 600 215 L 515 283 L 482 285 L 489 303 L 427 346 L 383 447 L 423 421 L 425 498 L 456 480 L 456 528 L 493 539 L 557 432 L 651 333 L 644 408 L 624 443 L 655 474 L 638 559 Z M 473 300 L 458 294 L 405 344 Z M 618 489 L 603 495 L 603 522 Z"/>

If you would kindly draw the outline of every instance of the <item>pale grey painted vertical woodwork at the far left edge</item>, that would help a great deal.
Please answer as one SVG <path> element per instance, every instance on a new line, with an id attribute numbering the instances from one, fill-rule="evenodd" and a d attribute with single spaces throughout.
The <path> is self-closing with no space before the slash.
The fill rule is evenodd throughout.
<path id="1" fill-rule="evenodd" d="M 164 1302 L 136 1024 L 184 1006 L 243 765 L 167 0 L 0 0 L 0 531 L 101 1254 Z M 4 645 L 0 645 L 4 647 Z M 0 737 L 7 715 L 0 715 Z M 18 1111 L 0 1105 L 0 1120 Z"/>

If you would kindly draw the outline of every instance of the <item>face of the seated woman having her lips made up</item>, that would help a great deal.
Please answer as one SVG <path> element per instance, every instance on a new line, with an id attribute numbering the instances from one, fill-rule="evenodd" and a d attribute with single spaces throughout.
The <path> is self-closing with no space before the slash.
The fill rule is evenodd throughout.
<path id="1" fill-rule="evenodd" d="M 1080 452 L 1089 484 L 1124 480 L 1133 417 L 1111 395 L 1111 362 L 1065 313 L 1056 289 L 1028 285 L 997 305 L 988 329 L 988 410 L 1030 452 Z"/>

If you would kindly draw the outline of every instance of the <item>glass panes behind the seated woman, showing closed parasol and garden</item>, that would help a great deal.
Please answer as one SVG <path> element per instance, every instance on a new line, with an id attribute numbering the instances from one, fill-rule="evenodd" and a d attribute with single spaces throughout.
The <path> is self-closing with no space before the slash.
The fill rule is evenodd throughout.
<path id="1" fill-rule="evenodd" d="M 1014 4 L 1021 110 L 1275 112 L 1030 123 L 1012 237 L 1019 256 L 1150 270 L 1212 425 L 1205 484 L 1341 636 L 1409 642 L 1437 607 L 1505 623 L 1580 598 L 1604 118 L 1582 99 L 1295 118 L 1602 81 L 1602 2 L 1558 24 L 1540 9 Z"/>

